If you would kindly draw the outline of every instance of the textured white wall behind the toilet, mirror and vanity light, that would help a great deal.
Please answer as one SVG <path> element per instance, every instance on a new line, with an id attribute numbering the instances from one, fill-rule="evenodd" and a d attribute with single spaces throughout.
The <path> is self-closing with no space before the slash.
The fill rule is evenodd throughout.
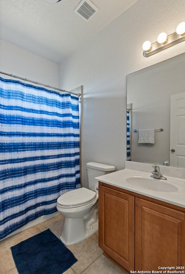
<path id="1" fill-rule="evenodd" d="M 185 42 L 144 58 L 142 44 L 156 42 L 163 31 L 173 33 L 184 18 L 184 0 L 139 0 L 60 64 L 60 87 L 83 85 L 84 186 L 89 161 L 124 168 L 126 75 L 183 53 Z"/>

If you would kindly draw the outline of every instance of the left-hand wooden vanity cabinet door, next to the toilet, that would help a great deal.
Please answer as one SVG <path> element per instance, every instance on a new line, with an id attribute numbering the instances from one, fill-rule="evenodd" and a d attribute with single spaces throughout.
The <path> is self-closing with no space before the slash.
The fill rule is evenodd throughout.
<path id="1" fill-rule="evenodd" d="M 99 246 L 117 264 L 134 269 L 134 196 L 99 183 Z"/>

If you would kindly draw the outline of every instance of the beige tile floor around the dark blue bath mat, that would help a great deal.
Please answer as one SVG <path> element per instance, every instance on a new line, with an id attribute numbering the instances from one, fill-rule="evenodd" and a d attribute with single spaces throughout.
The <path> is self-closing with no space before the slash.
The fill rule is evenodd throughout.
<path id="1" fill-rule="evenodd" d="M 32 237 L 46 229 L 50 229 L 57 237 L 60 237 L 64 217 L 60 214 L 52 219 L 35 225 L 12 237 L 0 241 L 0 274 L 18 274 L 15 267 L 11 246 Z M 71 266 L 65 274 L 123 274 L 124 272 L 108 260 L 98 246 L 98 233 L 88 239 L 68 248 L 73 252 L 78 261 Z M 43 273 L 44 274 L 44 273 Z M 54 273 L 53 273 L 54 274 Z"/>

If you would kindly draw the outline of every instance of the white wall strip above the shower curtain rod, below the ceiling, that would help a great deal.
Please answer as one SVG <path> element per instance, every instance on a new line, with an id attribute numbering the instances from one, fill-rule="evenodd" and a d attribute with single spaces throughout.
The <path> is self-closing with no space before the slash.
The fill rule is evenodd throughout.
<path id="1" fill-rule="evenodd" d="M 0 40 L 0 71 L 58 87 L 58 64 L 3 40 Z"/>

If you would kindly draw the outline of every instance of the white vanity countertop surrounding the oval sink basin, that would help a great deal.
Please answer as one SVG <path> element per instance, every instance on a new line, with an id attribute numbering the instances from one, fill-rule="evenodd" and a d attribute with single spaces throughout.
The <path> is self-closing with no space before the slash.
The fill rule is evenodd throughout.
<path id="1" fill-rule="evenodd" d="M 150 164 L 143 164 L 143 165 L 149 165 L 149 169 L 151 169 L 151 171 L 153 170 L 151 168 L 152 165 L 150 165 Z M 127 164 L 125 166 L 130 167 L 130 164 Z M 162 175 L 167 178 L 167 180 L 151 178 L 151 180 L 153 180 L 153 182 L 152 182 L 153 184 L 155 184 L 156 180 L 158 182 L 161 181 L 161 184 L 162 184 L 162 182 L 165 182 L 165 184 L 166 183 L 172 184 L 171 182 L 173 182 L 173 185 L 175 185 L 178 189 L 177 191 L 174 191 L 174 192 L 165 192 L 164 190 L 163 191 L 154 191 L 154 190 L 150 190 L 150 189 L 145 189 L 143 187 L 139 187 L 139 184 L 138 184 L 138 186 L 134 186 L 124 180 L 124 177 L 127 177 L 127 175 L 132 176 L 132 174 L 134 174 L 134 173 L 140 174 L 141 176 L 144 175 L 145 178 L 147 176 L 148 176 L 148 178 L 150 178 L 151 173 L 145 172 L 144 170 L 146 170 L 146 166 L 143 170 L 142 169 L 137 170 L 137 169 L 125 168 L 125 169 L 122 169 L 122 170 L 119 170 L 116 172 L 112 172 L 112 173 L 109 173 L 109 174 L 106 174 L 103 176 L 96 177 L 95 179 L 97 179 L 100 182 L 104 182 L 109 185 L 113 185 L 115 187 L 127 189 L 129 191 L 133 191 L 135 193 L 142 194 L 144 196 L 155 198 L 157 200 L 161 200 L 161 201 L 171 203 L 173 205 L 177 205 L 177 206 L 185 208 L 185 179 L 184 178 L 177 178 L 177 176 L 169 177 L 166 175 L 166 173 L 168 173 L 168 172 L 165 172 L 165 175 L 161 172 Z M 170 167 L 169 167 L 169 170 L 170 170 Z M 171 172 L 169 172 L 169 173 L 171 173 Z"/>

